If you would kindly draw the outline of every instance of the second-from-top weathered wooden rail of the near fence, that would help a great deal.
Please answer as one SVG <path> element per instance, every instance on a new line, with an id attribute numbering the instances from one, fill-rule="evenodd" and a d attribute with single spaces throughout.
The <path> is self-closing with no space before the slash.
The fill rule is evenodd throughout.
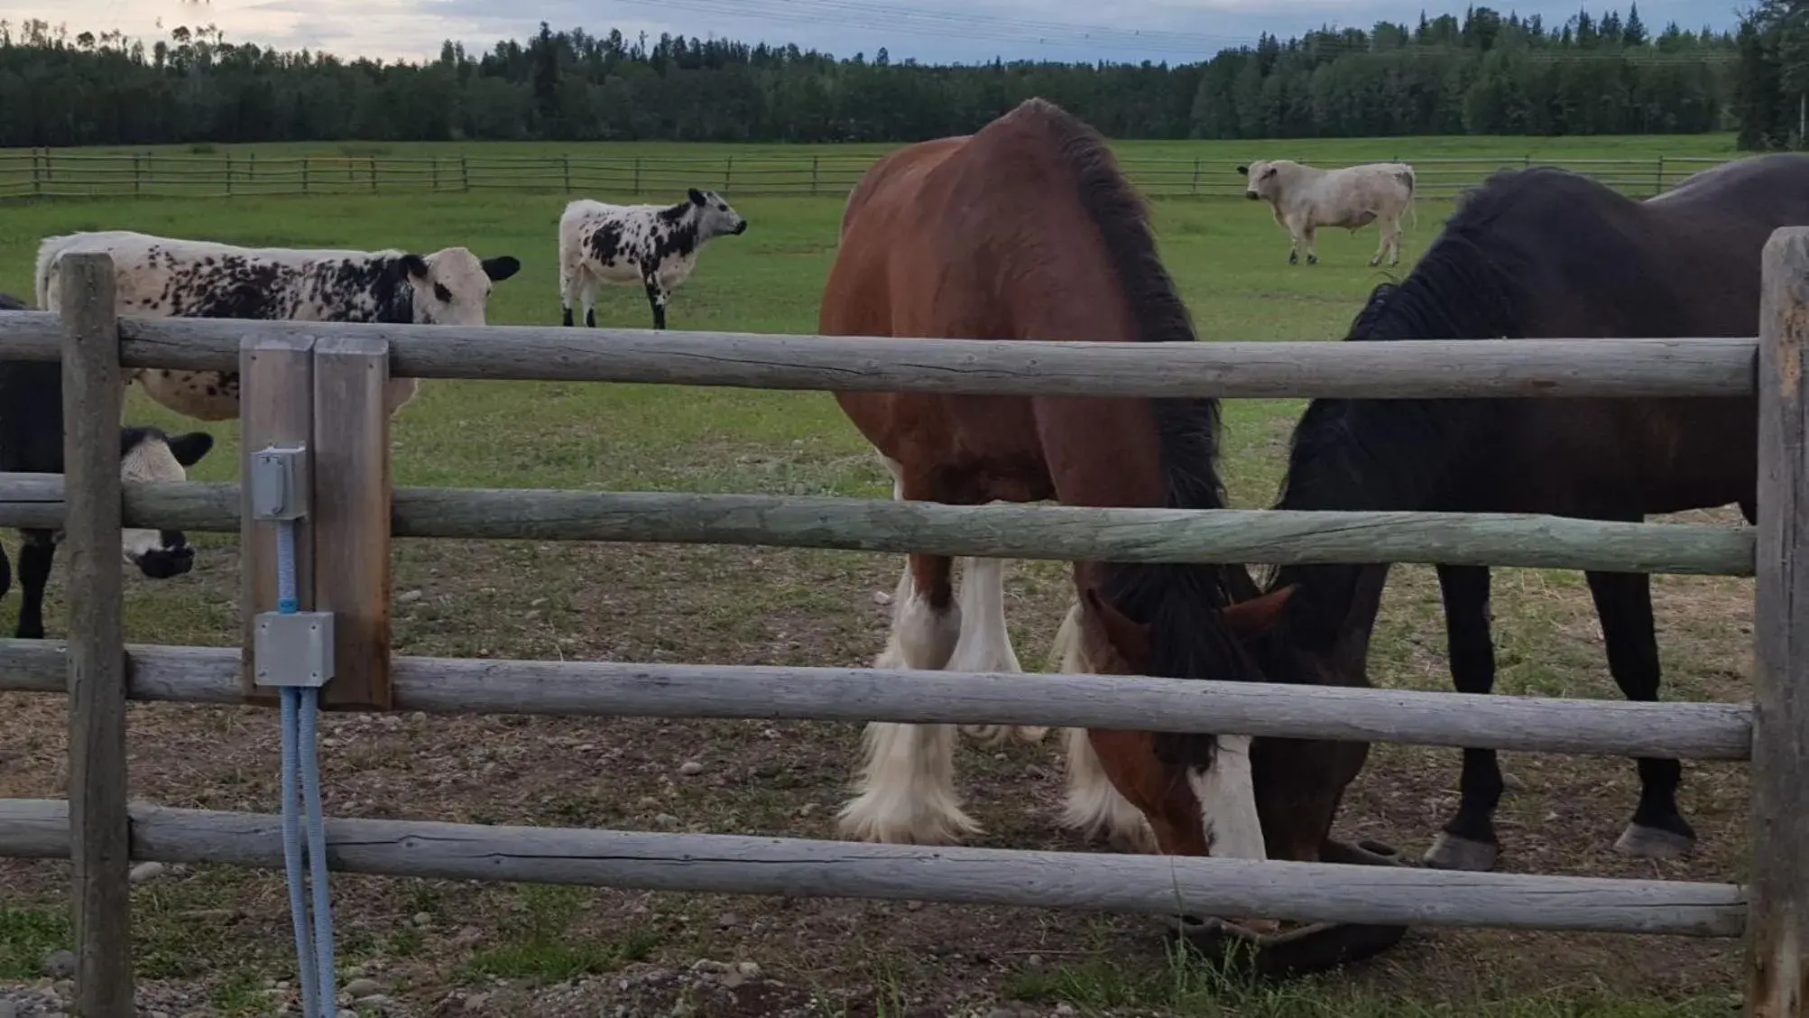
<path id="1" fill-rule="evenodd" d="M 239 485 L 125 486 L 128 526 L 233 533 Z M 0 526 L 63 524 L 56 474 L 0 474 Z M 762 544 L 1111 562 L 1418 562 L 1753 575 L 1753 530 L 1454 512 L 950 506 L 881 499 L 396 488 L 394 537 Z"/>

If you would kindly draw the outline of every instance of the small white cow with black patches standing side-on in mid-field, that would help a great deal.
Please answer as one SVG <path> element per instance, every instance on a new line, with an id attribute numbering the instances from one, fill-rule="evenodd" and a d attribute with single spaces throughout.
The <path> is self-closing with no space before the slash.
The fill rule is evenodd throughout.
<path id="1" fill-rule="evenodd" d="M 640 284 L 653 307 L 653 327 L 666 327 L 666 298 L 678 289 L 706 242 L 745 233 L 747 221 L 716 192 L 691 188 L 675 206 L 602 204 L 577 199 L 559 217 L 559 307 L 572 324 L 572 304 L 584 306 L 584 324 L 597 325 L 597 286 Z"/>

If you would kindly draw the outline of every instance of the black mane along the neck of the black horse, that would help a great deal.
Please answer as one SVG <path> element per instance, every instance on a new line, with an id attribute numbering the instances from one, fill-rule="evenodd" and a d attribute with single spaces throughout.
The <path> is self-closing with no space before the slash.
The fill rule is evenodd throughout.
<path id="1" fill-rule="evenodd" d="M 1530 264 L 1498 224 L 1529 188 L 1549 188 L 1554 174 L 1561 172 L 1500 172 L 1467 193 L 1407 278 L 1369 293 L 1344 342 L 1523 336 L 1532 300 L 1521 280 Z M 1487 457 L 1478 443 L 1492 438 L 1483 425 L 1498 409 L 1491 400 L 1313 400 L 1293 427 L 1275 508 L 1425 508 L 1463 465 Z M 1288 638 L 1328 647 L 1362 570 L 1275 570 L 1264 589 L 1301 584 L 1283 617 Z"/>

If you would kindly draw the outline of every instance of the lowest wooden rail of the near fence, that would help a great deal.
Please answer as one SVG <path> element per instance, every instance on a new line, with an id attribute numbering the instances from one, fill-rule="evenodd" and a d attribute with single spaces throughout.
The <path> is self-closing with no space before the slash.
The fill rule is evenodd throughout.
<path id="1" fill-rule="evenodd" d="M 280 823 L 264 814 L 132 808 L 134 859 L 282 866 Z M 0 799 L 0 855 L 62 859 L 69 815 L 54 799 Z M 1735 884 L 1529 877 L 1440 870 L 919 848 L 724 834 L 644 834 L 425 821 L 329 819 L 327 855 L 346 873 L 525 881 L 1140 915 L 1266 915 L 1297 920 L 1738 937 Z"/>

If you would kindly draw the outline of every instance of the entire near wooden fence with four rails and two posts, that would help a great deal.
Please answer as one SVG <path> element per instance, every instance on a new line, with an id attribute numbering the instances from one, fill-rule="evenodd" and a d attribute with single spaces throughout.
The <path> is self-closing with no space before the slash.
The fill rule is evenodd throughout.
<path id="1" fill-rule="evenodd" d="M 436 712 L 1035 723 L 1753 761 L 1746 884 L 1353 870 L 783 837 L 333 819 L 342 872 L 669 891 L 876 897 L 1174 915 L 1747 938 L 1749 1014 L 1802 1016 L 1809 971 L 1809 228 L 1766 248 L 1757 340 L 1760 526 L 1525 515 L 928 506 L 745 495 L 396 490 L 393 537 L 693 541 L 995 557 L 1491 562 L 1757 575 L 1755 703 L 1567 702 L 1163 678 L 391 658 L 384 703 Z M 541 378 L 818 391 L 1114 396 L 1749 396 L 1755 340 L 997 344 L 611 329 L 317 325 L 112 315 L 105 259 L 69 259 L 65 315 L 0 315 L 0 358 L 63 362 L 67 472 L 0 476 L 0 526 L 63 526 L 67 644 L 0 642 L 0 689 L 71 696 L 69 801 L 0 801 L 0 855 L 74 861 L 78 1007 L 132 1014 L 130 859 L 277 866 L 275 817 L 128 806 L 128 698 L 242 703 L 241 647 L 127 646 L 118 530 L 241 532 L 239 485 L 118 476 L 121 367 L 246 369 L 246 448 L 318 385 L 273 363 L 356 340 L 380 380 Z M 707 349 L 711 356 L 696 356 Z M 257 362 L 279 353 L 277 360 Z M 306 358 L 295 363 L 306 367 Z M 371 385 L 365 383 L 365 389 Z M 338 389 L 346 389 L 340 385 Z M 378 387 L 380 389 L 380 387 Z M 320 403 L 324 407 L 324 403 Z M 253 407 L 262 407 L 257 414 Z M 306 423 L 300 434 L 309 434 Z M 318 434 L 313 432 L 313 434 Z M 318 450 L 317 450 L 318 456 Z M 387 447 L 356 467 L 385 499 Z M 324 524 L 322 524 L 324 526 Z M 304 544 L 306 546 L 306 544 Z M 255 557 L 253 544 L 246 553 Z M 1805 564 L 1798 571 L 1796 564 Z M 387 577 L 384 577 L 387 580 Z M 318 595 L 318 591 L 317 591 Z M 376 595 L 387 611 L 387 586 Z M 306 604 L 304 604 L 306 608 Z M 317 604 L 318 608 L 318 604 Z M 253 606 L 246 604 L 246 611 Z M 344 658 L 342 658 L 344 660 Z M 344 671 L 344 669 L 342 669 Z M 344 674 L 340 678 L 346 678 Z M 335 680 L 338 683 L 340 680 Z M 333 689 L 329 685 L 327 689 Z M 374 696 L 374 693 L 373 693 Z"/>

